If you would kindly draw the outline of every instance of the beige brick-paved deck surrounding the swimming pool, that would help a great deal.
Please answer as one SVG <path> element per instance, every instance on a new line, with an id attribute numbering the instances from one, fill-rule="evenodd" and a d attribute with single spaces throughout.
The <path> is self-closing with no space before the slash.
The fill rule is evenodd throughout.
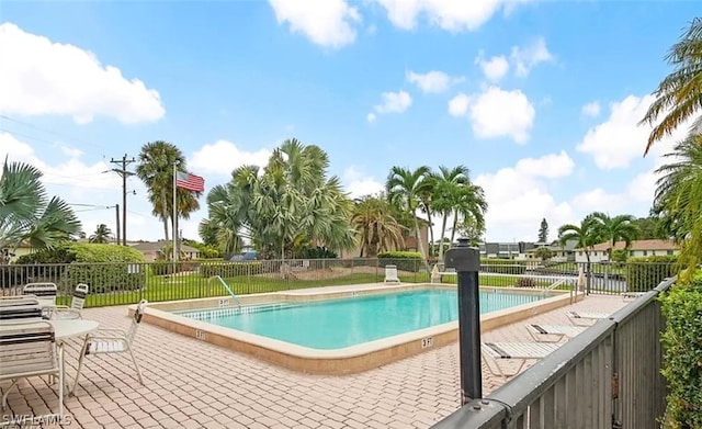
<path id="1" fill-rule="evenodd" d="M 626 304 L 620 296 L 590 295 L 565 308 L 601 313 Z M 532 341 L 524 324 L 567 325 L 565 308 L 490 330 L 483 340 Z M 126 306 L 83 311 L 84 319 L 103 328 L 127 327 L 126 315 Z M 72 383 L 80 342 L 68 346 L 66 371 Z M 344 376 L 287 371 L 150 324 L 141 324 L 134 347 L 146 385 L 138 383 L 128 353 L 86 358 L 76 396 L 65 398 L 72 420 L 66 427 L 428 428 L 460 402 L 457 343 Z M 483 370 L 487 395 L 506 380 L 485 364 Z M 57 410 L 46 377 L 21 381 L 8 402 L 9 410 L 0 415 Z M 0 416 L 0 428 L 5 419 Z"/>

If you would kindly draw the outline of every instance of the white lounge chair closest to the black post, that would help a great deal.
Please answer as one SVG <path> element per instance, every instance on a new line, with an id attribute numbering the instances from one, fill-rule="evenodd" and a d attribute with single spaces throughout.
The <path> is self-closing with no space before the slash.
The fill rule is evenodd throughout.
<path id="1" fill-rule="evenodd" d="M 529 360 L 543 359 L 561 345 L 553 342 L 483 342 L 483 358 L 488 370 L 499 376 L 509 377 L 519 374 Z M 498 363 L 501 359 L 519 360 L 519 368 L 507 373 Z"/>

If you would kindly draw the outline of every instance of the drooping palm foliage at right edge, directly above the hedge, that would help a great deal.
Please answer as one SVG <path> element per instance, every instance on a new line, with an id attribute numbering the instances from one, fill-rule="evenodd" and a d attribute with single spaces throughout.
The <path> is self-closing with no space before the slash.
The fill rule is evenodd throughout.
<path id="1" fill-rule="evenodd" d="M 690 134 L 665 157 L 671 161 L 656 170 L 661 176 L 654 205 L 682 245 L 679 261 L 687 268 L 686 275 L 691 275 L 702 261 L 702 135 Z"/>

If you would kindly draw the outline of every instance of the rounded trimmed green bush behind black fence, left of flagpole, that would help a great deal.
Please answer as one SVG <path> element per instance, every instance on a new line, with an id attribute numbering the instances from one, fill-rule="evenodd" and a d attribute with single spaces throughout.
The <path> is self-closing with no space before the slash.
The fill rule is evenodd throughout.
<path id="1" fill-rule="evenodd" d="M 144 255 L 131 247 L 100 244 L 72 244 L 76 260 L 64 273 L 71 286 L 86 283 L 90 293 L 134 291 L 146 284 Z"/>

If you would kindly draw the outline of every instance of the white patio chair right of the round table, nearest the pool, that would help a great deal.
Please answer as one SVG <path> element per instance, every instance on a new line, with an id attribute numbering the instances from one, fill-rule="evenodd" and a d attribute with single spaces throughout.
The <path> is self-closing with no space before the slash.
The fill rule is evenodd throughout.
<path id="1" fill-rule="evenodd" d="M 137 305 L 136 311 L 134 312 L 134 318 L 132 319 L 132 325 L 128 330 L 124 329 L 98 329 L 95 332 L 88 334 L 86 336 L 86 341 L 83 342 L 83 347 L 80 350 L 80 359 L 78 360 L 78 372 L 76 373 L 76 382 L 73 383 L 73 387 L 70 390 L 70 394 L 72 395 L 78 386 L 78 381 L 80 379 L 80 370 L 83 365 L 83 359 L 87 355 L 92 354 L 111 354 L 111 353 L 124 353 L 128 352 L 132 358 L 132 362 L 134 363 L 134 368 L 136 369 L 136 373 L 139 379 L 139 383 L 144 384 L 144 377 L 141 376 L 141 370 L 139 369 L 138 363 L 136 362 L 136 358 L 134 357 L 134 352 L 132 351 L 132 342 L 134 341 L 134 337 L 136 336 L 136 330 L 141 323 L 141 317 L 144 317 L 144 311 L 146 309 L 146 300 L 141 300 L 139 305 Z"/>

